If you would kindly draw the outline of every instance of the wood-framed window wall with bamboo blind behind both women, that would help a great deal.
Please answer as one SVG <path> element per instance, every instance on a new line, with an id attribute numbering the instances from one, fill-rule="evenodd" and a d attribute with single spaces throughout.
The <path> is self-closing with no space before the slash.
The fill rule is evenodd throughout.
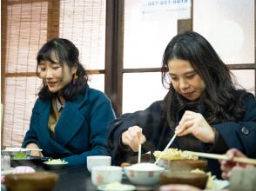
<path id="1" fill-rule="evenodd" d="M 37 50 L 57 36 L 77 45 L 91 73 L 90 86 L 109 95 L 117 115 L 163 99 L 162 55 L 172 36 L 183 30 L 205 36 L 237 82 L 255 95 L 254 1 L 174 2 L 3 0 L 2 145 L 23 141 L 41 85 L 35 73 Z"/>

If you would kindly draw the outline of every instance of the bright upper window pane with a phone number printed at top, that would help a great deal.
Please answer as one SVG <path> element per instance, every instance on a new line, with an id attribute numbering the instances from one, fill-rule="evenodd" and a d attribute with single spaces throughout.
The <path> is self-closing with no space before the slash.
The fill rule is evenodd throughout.
<path id="1" fill-rule="evenodd" d="M 125 1 L 124 68 L 160 68 L 178 19 L 191 17 L 191 1 Z"/>

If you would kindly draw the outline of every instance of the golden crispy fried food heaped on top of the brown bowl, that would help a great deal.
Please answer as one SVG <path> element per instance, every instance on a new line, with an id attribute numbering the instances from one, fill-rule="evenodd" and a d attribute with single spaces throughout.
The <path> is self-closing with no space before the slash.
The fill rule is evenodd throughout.
<path id="1" fill-rule="evenodd" d="M 162 151 L 155 151 L 153 153 L 153 155 L 158 158 L 160 155 L 162 154 Z M 195 156 L 195 155 L 188 155 L 184 152 L 182 152 L 181 150 L 179 150 L 178 148 L 168 148 L 165 150 L 165 153 L 161 156 L 161 159 L 164 160 L 198 160 L 199 157 Z"/>

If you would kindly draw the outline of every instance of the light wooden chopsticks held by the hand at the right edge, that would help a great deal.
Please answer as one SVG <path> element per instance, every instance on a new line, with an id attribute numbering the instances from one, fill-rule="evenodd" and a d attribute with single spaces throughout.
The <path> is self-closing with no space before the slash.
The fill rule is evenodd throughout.
<path id="1" fill-rule="evenodd" d="M 218 155 L 218 154 L 211 154 L 211 153 L 200 153 L 200 152 L 193 152 L 193 151 L 184 151 L 185 154 L 188 155 L 197 155 L 204 158 L 209 159 L 218 159 L 218 160 L 229 160 L 226 155 Z M 232 161 L 236 161 L 239 163 L 247 163 L 256 165 L 256 159 L 245 158 L 245 157 L 233 157 Z"/>

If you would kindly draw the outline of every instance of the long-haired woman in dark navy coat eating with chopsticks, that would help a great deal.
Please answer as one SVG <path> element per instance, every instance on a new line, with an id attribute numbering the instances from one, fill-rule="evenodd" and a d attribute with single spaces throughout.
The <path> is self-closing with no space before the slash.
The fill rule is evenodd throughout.
<path id="1" fill-rule="evenodd" d="M 129 160 L 139 143 L 145 152 L 163 150 L 174 134 L 172 148 L 219 154 L 239 148 L 256 156 L 255 97 L 235 88 L 231 72 L 203 36 L 187 31 L 172 38 L 162 83 L 169 89 L 164 100 L 111 123 L 114 161 Z M 220 176 L 218 161 L 209 161 L 209 169 Z"/>

